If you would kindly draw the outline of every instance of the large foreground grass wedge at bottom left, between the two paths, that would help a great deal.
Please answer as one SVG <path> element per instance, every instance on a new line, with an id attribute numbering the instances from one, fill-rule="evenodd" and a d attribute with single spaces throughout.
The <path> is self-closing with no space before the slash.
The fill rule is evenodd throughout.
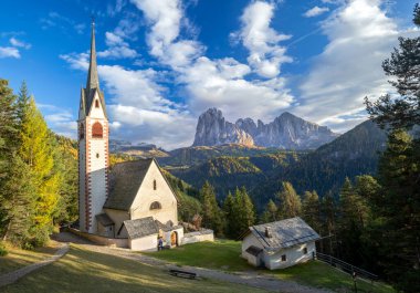
<path id="1" fill-rule="evenodd" d="M 266 292 L 211 280 L 186 280 L 136 261 L 71 245 L 69 253 L 0 292 Z"/>

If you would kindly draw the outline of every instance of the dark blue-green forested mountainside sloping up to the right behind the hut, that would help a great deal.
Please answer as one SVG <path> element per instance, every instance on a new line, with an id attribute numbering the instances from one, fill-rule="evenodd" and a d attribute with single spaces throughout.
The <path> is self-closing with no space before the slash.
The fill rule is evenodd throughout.
<path id="1" fill-rule="evenodd" d="M 337 193 L 346 177 L 376 172 L 386 142 L 384 130 L 370 121 L 364 122 L 295 164 L 272 172 L 252 195 L 258 205 L 265 205 L 284 180 L 291 181 L 300 193 L 313 189 L 321 196 L 329 190 Z"/>

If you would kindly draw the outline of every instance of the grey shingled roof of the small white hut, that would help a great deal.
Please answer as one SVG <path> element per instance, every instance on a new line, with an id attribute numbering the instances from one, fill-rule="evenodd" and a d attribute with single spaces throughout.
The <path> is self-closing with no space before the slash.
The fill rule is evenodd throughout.
<path id="1" fill-rule="evenodd" d="M 266 234 L 270 231 L 270 237 Z M 279 250 L 319 239 L 319 236 L 300 217 L 250 227 L 250 232 L 266 250 Z"/>

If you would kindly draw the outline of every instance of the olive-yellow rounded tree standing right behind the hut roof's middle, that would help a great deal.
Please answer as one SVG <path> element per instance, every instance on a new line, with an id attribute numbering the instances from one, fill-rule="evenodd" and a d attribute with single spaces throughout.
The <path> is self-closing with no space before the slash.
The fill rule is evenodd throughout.
<path id="1" fill-rule="evenodd" d="M 280 219 L 293 218 L 301 214 L 301 198 L 296 193 L 291 182 L 282 182 L 283 190 L 277 193 L 280 200 Z"/>

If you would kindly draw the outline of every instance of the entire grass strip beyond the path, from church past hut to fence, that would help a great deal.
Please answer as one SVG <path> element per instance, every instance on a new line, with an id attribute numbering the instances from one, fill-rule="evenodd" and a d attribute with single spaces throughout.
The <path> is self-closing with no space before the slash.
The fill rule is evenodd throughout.
<path id="1" fill-rule="evenodd" d="M 223 240 L 193 243 L 174 250 L 150 252 L 149 254 L 180 265 L 193 265 L 225 271 L 255 270 L 250 266 L 245 260 L 239 257 L 240 253 L 241 242 Z M 354 287 L 353 279 L 349 274 L 322 262 L 308 262 L 277 271 L 259 269 L 258 272 L 273 274 L 282 280 L 292 280 L 312 286 L 327 287 L 336 291 L 342 289 L 351 290 Z M 377 293 L 395 292 L 388 285 L 377 284 L 371 286 L 370 283 L 364 280 L 358 280 L 357 286 L 358 289 Z"/>

